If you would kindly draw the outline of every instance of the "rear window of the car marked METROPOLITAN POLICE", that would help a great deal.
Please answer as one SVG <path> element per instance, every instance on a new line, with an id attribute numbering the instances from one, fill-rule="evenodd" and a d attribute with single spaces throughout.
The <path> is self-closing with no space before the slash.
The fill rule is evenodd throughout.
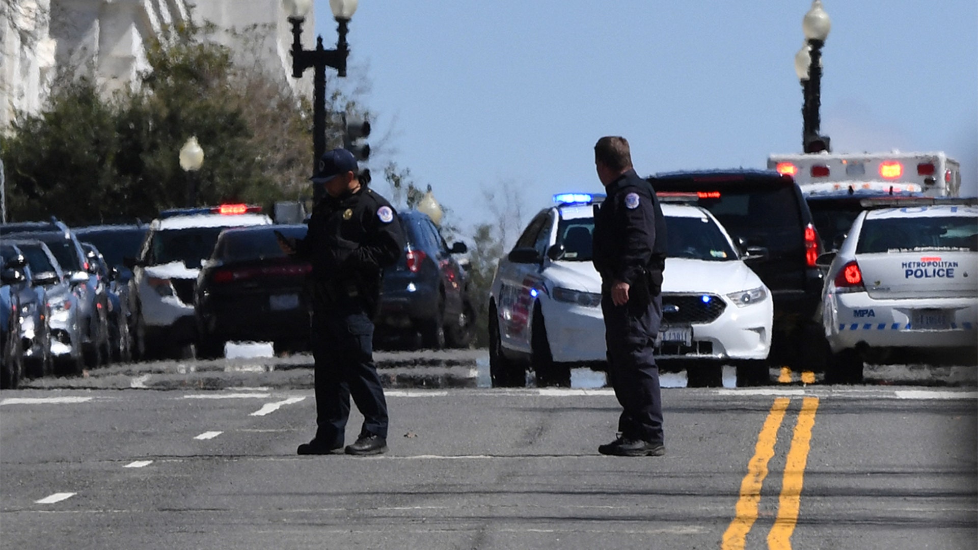
<path id="1" fill-rule="evenodd" d="M 863 223 L 856 253 L 900 251 L 978 252 L 978 218 L 893 217 Z"/>

